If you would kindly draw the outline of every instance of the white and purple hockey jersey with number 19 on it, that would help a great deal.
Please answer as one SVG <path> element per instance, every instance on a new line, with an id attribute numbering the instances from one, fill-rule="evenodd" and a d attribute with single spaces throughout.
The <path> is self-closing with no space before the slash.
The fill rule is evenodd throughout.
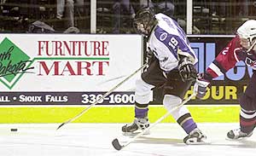
<path id="1" fill-rule="evenodd" d="M 148 49 L 160 61 L 160 68 L 165 72 L 176 68 L 177 53 L 180 50 L 195 64 L 198 61 L 195 52 L 191 49 L 189 39 L 177 22 L 165 14 L 155 14 L 155 18 L 158 20 L 158 24 L 148 39 Z"/>

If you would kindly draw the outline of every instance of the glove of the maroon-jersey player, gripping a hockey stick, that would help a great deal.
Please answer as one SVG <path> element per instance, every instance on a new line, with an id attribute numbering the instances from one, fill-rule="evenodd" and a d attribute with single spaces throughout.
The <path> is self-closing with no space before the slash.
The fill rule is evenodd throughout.
<path id="1" fill-rule="evenodd" d="M 198 74 L 194 84 L 194 92 L 196 97 L 202 99 L 207 94 L 207 86 L 210 84 L 210 81 L 204 78 L 204 74 Z"/>

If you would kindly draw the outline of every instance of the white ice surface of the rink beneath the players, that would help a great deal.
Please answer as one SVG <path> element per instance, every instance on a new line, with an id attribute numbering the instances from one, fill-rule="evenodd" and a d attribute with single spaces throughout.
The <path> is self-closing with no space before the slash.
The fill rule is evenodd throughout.
<path id="1" fill-rule="evenodd" d="M 198 124 L 211 141 L 188 146 L 186 134 L 177 124 L 157 124 L 151 134 L 117 151 L 111 142 L 121 136 L 123 124 L 0 124 L 2 156 L 253 156 L 256 135 L 241 141 L 225 140 L 227 131 L 238 124 Z M 18 131 L 11 131 L 16 128 Z M 127 138 L 126 138 L 127 140 Z"/>

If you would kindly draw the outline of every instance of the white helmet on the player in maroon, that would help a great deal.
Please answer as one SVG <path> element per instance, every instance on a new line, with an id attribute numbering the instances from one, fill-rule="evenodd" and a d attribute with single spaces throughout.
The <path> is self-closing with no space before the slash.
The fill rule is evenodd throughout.
<path id="1" fill-rule="evenodd" d="M 256 20 L 247 20 L 238 29 L 237 34 L 240 38 L 246 38 L 250 42 L 256 38 Z"/>

